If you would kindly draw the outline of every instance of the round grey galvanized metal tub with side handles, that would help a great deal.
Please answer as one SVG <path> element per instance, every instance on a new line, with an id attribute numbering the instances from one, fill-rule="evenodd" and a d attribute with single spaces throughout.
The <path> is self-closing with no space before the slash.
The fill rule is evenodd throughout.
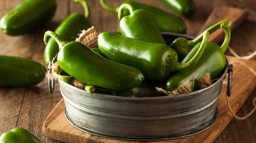
<path id="1" fill-rule="evenodd" d="M 167 44 L 181 34 L 162 33 Z M 233 65 L 232 65 L 233 66 Z M 220 80 L 190 93 L 161 97 L 121 97 L 90 94 L 58 80 L 65 102 L 65 116 L 76 128 L 87 133 L 121 140 L 167 140 L 197 134 L 217 119 L 217 102 L 226 74 Z M 232 75 L 229 75 L 232 77 Z M 228 83 L 231 88 L 231 83 Z"/>

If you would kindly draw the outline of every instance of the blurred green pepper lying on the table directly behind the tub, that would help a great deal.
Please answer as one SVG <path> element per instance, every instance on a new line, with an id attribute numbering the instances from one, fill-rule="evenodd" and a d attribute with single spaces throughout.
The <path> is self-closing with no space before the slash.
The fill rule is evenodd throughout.
<path id="1" fill-rule="evenodd" d="M 99 2 L 103 8 L 111 12 L 118 13 L 119 7 L 111 7 L 107 5 L 104 0 L 99 0 Z M 132 0 L 125 1 L 122 3 L 122 5 L 123 4 L 131 4 L 132 6 L 134 6 L 135 9 L 146 9 L 150 11 L 155 16 L 161 32 L 172 32 L 181 34 L 184 34 L 186 32 L 186 25 L 184 21 L 174 14 L 163 11 L 160 8 L 156 8 Z M 129 11 L 126 10 L 124 15 L 128 14 Z"/>

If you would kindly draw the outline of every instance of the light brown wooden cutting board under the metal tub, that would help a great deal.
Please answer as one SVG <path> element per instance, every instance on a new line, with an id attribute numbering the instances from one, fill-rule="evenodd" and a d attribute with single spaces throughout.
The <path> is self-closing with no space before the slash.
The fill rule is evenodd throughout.
<path id="1" fill-rule="evenodd" d="M 228 98 L 231 108 L 236 113 L 248 98 L 256 86 L 256 75 L 250 68 L 256 71 L 255 60 L 237 59 L 226 56 L 229 64 L 234 65 L 231 96 Z M 248 65 L 249 67 L 246 67 Z M 218 100 L 219 115 L 216 122 L 208 129 L 184 138 L 148 141 L 148 143 L 170 143 L 170 142 L 213 142 L 233 119 L 226 100 L 227 77 L 223 83 L 222 93 Z M 71 125 L 64 115 L 65 103 L 63 99 L 54 107 L 43 124 L 43 134 L 48 138 L 70 143 L 140 143 L 140 141 L 124 141 L 104 138 L 83 132 Z M 248 109 L 248 112 L 251 109 Z M 144 142 L 143 142 L 144 143 Z"/>

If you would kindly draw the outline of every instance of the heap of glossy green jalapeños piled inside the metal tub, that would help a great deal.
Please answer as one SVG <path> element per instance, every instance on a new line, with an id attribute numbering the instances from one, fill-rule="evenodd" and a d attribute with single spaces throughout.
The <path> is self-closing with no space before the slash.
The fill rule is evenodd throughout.
<path id="1" fill-rule="evenodd" d="M 104 1 L 101 3 L 106 7 Z M 212 78 L 217 78 L 223 70 L 224 51 L 230 40 L 228 20 L 214 24 L 194 40 L 180 37 L 167 46 L 155 16 L 148 10 L 136 9 L 131 3 L 124 3 L 118 8 L 117 14 L 120 34 L 99 34 L 98 49 L 89 49 L 75 41 L 68 43 L 52 31 L 45 33 L 46 45 L 49 36 L 58 44 L 57 62 L 68 75 L 58 74 L 59 79 L 69 82 L 68 77 L 75 78 L 89 85 L 86 87 L 89 93 L 94 92 L 95 89 L 89 89 L 95 86 L 114 91 L 112 95 L 145 97 L 147 92 L 144 91 L 150 91 L 152 86 L 164 84 L 167 91 L 175 89 L 181 84 L 180 81 L 191 77 L 183 73 L 193 75 L 207 71 Z M 208 42 L 208 38 L 221 27 L 226 31 L 226 37 L 223 46 L 218 47 Z M 216 58 L 219 60 L 213 60 Z M 203 68 L 214 63 L 209 61 L 215 61 L 215 69 Z M 194 86 L 194 90 L 197 89 L 198 86 Z M 147 93 L 148 97 L 163 96 L 156 94 L 156 90 L 151 91 Z"/>

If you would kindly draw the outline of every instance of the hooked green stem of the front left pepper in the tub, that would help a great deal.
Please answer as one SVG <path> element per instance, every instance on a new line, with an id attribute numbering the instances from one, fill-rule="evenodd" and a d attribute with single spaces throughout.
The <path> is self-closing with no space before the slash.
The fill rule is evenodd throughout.
<path id="1" fill-rule="evenodd" d="M 47 45 L 47 42 L 49 41 L 49 36 L 53 38 L 59 45 L 59 49 L 61 49 L 64 45 L 66 45 L 68 42 L 64 41 L 62 38 L 60 38 L 55 32 L 53 31 L 46 31 L 44 34 L 44 43 Z"/>

